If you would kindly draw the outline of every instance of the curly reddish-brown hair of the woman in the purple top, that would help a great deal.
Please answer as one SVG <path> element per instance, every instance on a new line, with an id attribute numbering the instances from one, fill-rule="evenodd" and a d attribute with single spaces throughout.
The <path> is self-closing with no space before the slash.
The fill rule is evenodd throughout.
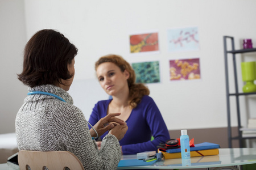
<path id="1" fill-rule="evenodd" d="M 97 70 L 98 66 L 104 62 L 112 62 L 117 65 L 121 71 L 127 70 L 130 73 L 129 78 L 127 79 L 127 83 L 129 86 L 129 105 L 130 108 L 136 108 L 139 103 L 141 103 L 141 99 L 144 95 L 149 95 L 150 91 L 144 84 L 135 83 L 136 75 L 131 67 L 131 65 L 125 61 L 121 56 L 117 56 L 114 54 L 109 54 L 107 56 L 103 56 L 95 63 L 95 70 Z"/>

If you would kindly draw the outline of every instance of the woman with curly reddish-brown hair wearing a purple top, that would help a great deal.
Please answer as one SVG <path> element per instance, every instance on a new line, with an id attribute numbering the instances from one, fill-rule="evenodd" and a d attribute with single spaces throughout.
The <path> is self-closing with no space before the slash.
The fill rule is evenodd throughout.
<path id="1" fill-rule="evenodd" d="M 156 151 L 159 143 L 170 139 L 158 107 L 148 96 L 150 91 L 143 84 L 135 83 L 135 72 L 125 59 L 113 54 L 103 56 L 96 62 L 95 70 L 101 87 L 113 99 L 98 101 L 90 115 L 90 124 L 96 124 L 110 113 L 121 113 L 117 117 L 129 126 L 125 137 L 119 141 L 124 155 Z"/>

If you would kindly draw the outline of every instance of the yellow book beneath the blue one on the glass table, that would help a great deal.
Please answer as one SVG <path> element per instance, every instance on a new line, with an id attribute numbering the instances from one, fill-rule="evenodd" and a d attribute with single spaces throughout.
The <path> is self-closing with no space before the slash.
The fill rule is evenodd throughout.
<path id="1" fill-rule="evenodd" d="M 158 152 L 161 152 L 161 151 L 158 150 Z M 181 152 L 177 152 L 177 153 L 162 152 L 162 153 L 163 153 L 164 159 L 181 158 Z M 218 148 L 190 152 L 190 157 L 209 156 L 209 155 L 218 155 Z"/>

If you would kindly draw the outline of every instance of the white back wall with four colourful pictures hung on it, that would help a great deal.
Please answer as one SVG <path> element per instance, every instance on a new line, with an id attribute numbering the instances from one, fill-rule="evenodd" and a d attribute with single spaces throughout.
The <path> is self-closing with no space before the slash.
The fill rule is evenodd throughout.
<path id="1" fill-rule="evenodd" d="M 79 48 L 70 94 L 86 118 L 94 101 L 106 96 L 99 86 L 82 88 L 77 84 L 87 81 L 96 85 L 94 62 L 102 55 L 114 53 L 129 62 L 160 61 L 162 83 L 147 85 L 168 129 L 227 126 L 223 36 L 234 36 L 236 49 L 241 48 L 241 40 L 245 38 L 253 39 L 256 45 L 255 7 L 254 0 L 24 0 L 27 40 L 39 29 L 52 28 L 64 33 Z M 200 50 L 168 53 L 167 29 L 190 26 L 199 29 Z M 130 33 L 150 30 L 159 32 L 160 53 L 131 55 Z M 201 80 L 170 83 L 168 59 L 190 57 L 200 58 Z M 89 94 L 91 91 L 95 95 Z M 88 97 L 92 100 L 88 101 Z M 82 106 L 82 101 L 88 108 Z M 244 110 L 245 104 L 242 101 L 241 104 Z M 235 109 L 233 104 L 232 111 Z M 255 111 L 255 107 L 250 109 Z M 232 126 L 236 126 L 236 113 L 232 115 Z M 246 124 L 245 117 L 242 123 Z"/>

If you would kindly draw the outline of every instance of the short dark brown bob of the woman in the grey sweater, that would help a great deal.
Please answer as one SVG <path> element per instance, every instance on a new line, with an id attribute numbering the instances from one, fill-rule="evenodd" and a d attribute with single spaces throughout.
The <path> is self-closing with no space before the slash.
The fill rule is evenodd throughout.
<path id="1" fill-rule="evenodd" d="M 18 79 L 30 87 L 56 84 L 72 78 L 68 64 L 77 48 L 60 32 L 43 29 L 35 33 L 24 48 L 23 71 Z"/>

